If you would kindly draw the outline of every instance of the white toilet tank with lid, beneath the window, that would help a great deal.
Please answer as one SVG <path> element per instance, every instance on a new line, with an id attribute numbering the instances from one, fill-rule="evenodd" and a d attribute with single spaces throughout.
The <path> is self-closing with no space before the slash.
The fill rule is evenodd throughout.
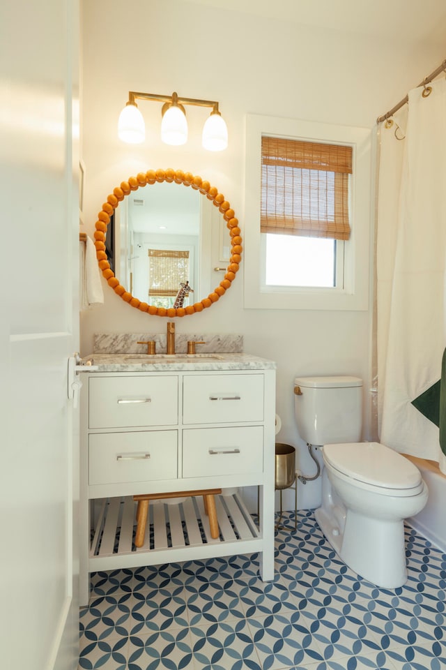
<path id="1" fill-rule="evenodd" d="M 362 430 L 362 379 L 296 377 L 295 419 L 309 445 L 359 442 Z"/>

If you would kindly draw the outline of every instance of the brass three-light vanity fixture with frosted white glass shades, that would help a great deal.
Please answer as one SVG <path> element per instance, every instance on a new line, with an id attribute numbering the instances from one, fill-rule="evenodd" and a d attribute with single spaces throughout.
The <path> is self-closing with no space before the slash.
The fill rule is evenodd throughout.
<path id="1" fill-rule="evenodd" d="M 195 107 L 212 107 L 212 112 L 203 126 L 201 138 L 204 149 L 222 151 L 228 146 L 228 129 L 218 110 L 218 103 L 211 100 L 195 98 L 178 98 L 176 93 L 171 96 L 158 96 L 151 93 L 129 91 L 128 103 L 122 110 L 118 121 L 118 136 L 123 142 L 140 144 L 146 137 L 144 119 L 138 109 L 137 100 L 151 100 L 164 103 L 162 105 L 161 139 L 165 144 L 180 145 L 187 141 L 187 120 L 184 105 Z"/>

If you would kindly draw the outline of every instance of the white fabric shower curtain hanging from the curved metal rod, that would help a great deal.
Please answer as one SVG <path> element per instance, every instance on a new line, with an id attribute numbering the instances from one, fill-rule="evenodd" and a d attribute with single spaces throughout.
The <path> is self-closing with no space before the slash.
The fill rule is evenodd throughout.
<path id="1" fill-rule="evenodd" d="M 438 461 L 446 345 L 446 80 L 410 91 L 378 129 L 378 435 Z M 390 126 L 390 127 L 389 127 Z M 446 380 L 443 385 L 445 392 Z"/>

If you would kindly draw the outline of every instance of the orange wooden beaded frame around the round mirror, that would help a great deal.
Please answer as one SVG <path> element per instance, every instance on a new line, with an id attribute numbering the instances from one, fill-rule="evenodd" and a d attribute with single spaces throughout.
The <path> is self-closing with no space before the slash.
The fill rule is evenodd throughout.
<path id="1" fill-rule="evenodd" d="M 226 227 L 229 229 L 231 237 L 231 258 L 229 265 L 226 268 L 226 274 L 220 284 L 211 292 L 208 297 L 188 305 L 186 307 L 156 307 L 150 305 L 139 298 L 134 297 L 124 286 L 121 285 L 114 271 L 110 267 L 105 251 L 105 237 L 107 234 L 107 226 L 110 223 L 110 217 L 114 214 L 114 210 L 119 203 L 129 195 L 132 191 L 137 191 L 141 186 L 160 183 L 167 181 L 168 183 L 183 184 L 183 186 L 190 186 L 195 191 L 199 191 L 208 200 L 211 200 L 215 207 L 218 207 Z M 95 248 L 98 264 L 102 270 L 102 276 L 107 280 L 110 288 L 120 296 L 130 306 L 139 309 L 141 312 L 147 312 L 154 316 L 167 316 L 174 318 L 176 316 L 185 316 L 187 314 L 194 314 L 203 311 L 204 308 L 210 307 L 217 300 L 224 295 L 224 293 L 231 288 L 233 280 L 239 269 L 240 260 L 242 258 L 242 238 L 240 237 L 240 228 L 238 227 L 238 219 L 231 209 L 231 205 L 224 198 L 224 195 L 218 192 L 215 186 L 210 186 L 208 181 L 195 176 L 190 172 L 183 172 L 183 170 L 148 170 L 147 172 L 138 172 L 136 177 L 129 177 L 128 181 L 121 181 L 119 186 L 114 188 L 113 193 L 107 197 L 107 202 L 102 204 L 102 209 L 98 214 L 98 221 L 95 224 Z"/>

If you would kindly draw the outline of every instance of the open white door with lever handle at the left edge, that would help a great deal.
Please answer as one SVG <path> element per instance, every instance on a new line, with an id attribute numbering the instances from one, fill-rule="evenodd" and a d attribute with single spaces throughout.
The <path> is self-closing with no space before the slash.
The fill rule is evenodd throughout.
<path id="1" fill-rule="evenodd" d="M 77 0 L 1 11 L 3 670 L 77 667 L 78 22 Z"/>

